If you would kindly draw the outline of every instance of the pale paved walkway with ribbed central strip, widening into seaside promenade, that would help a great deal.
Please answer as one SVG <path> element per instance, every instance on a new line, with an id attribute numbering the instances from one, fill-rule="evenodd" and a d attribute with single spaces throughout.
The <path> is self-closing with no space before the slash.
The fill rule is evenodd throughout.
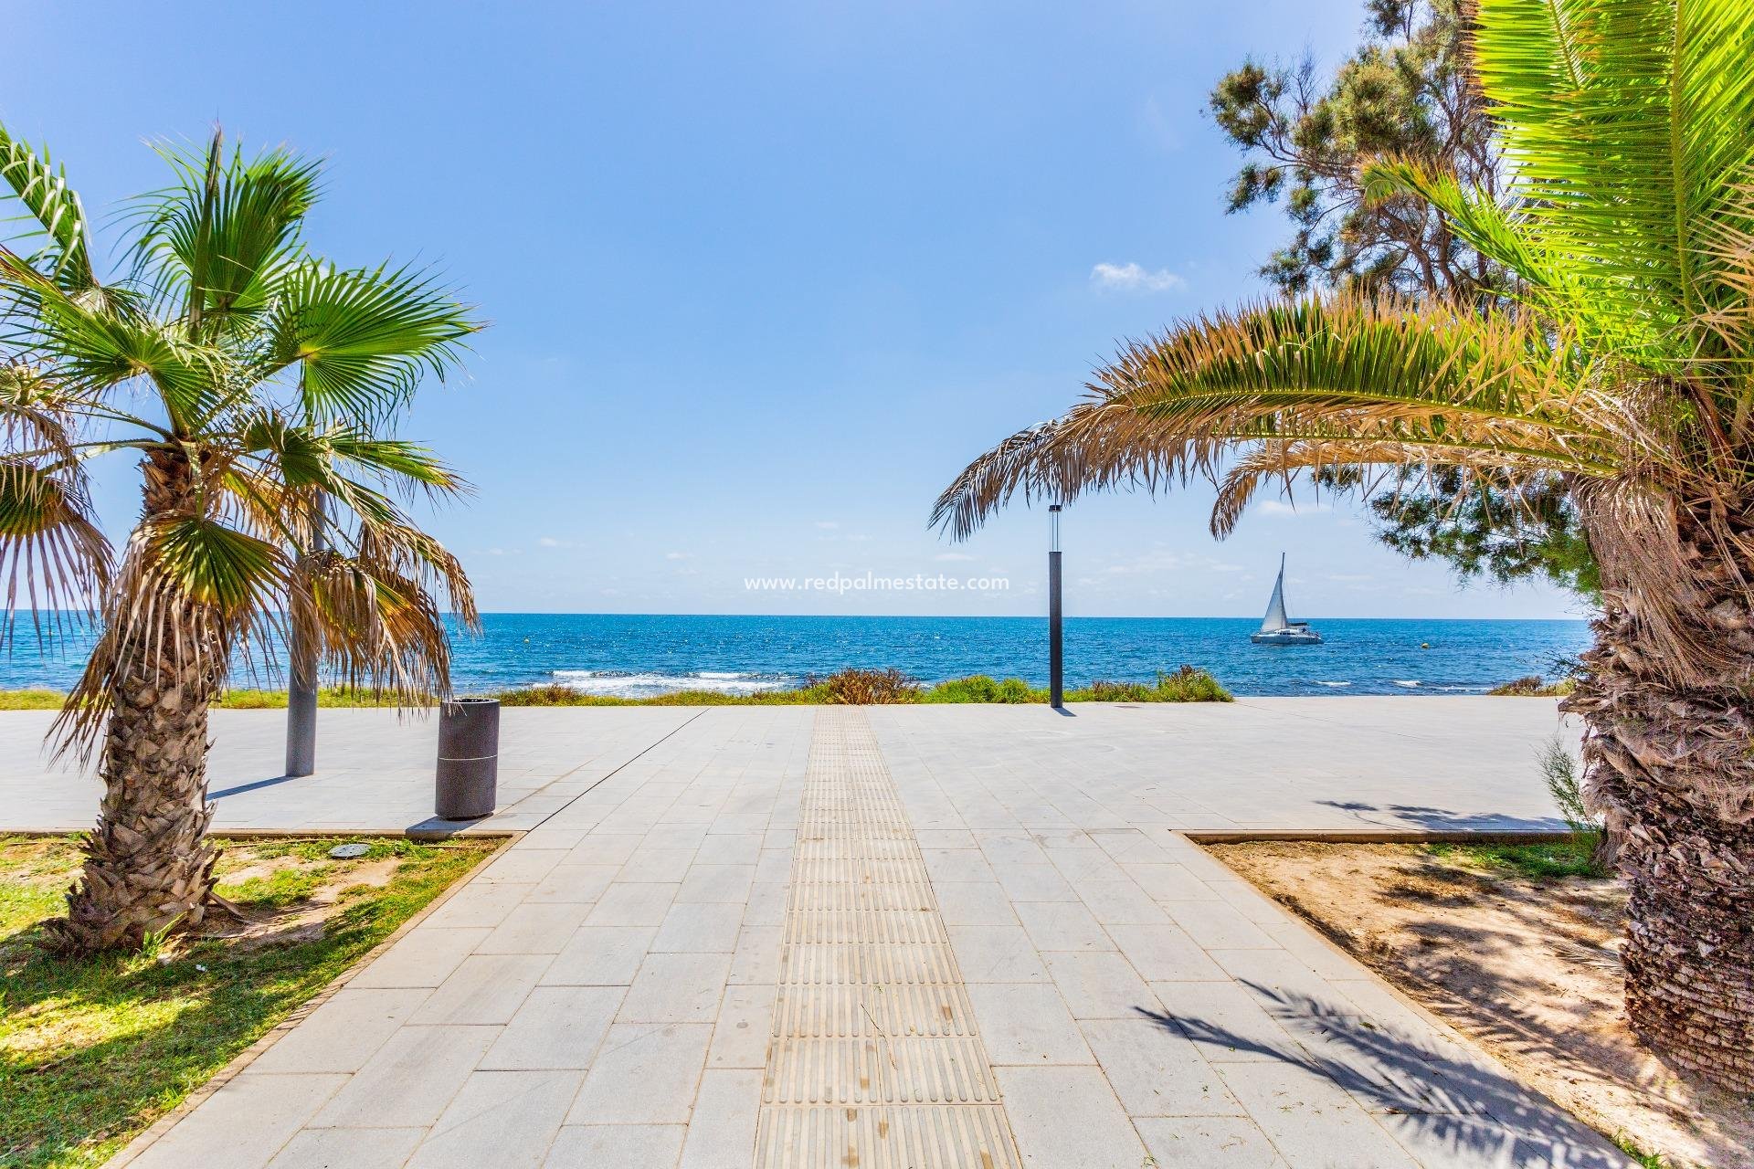
<path id="1" fill-rule="evenodd" d="M 342 713 L 328 757 L 358 734 L 370 766 L 221 822 L 337 822 L 374 771 L 417 822 L 430 724 Z M 517 713 L 528 832 L 125 1158 L 1628 1165 L 1180 834 L 1551 825 L 1551 703 Z M 268 729 L 221 717 L 219 759 L 265 766 Z"/>

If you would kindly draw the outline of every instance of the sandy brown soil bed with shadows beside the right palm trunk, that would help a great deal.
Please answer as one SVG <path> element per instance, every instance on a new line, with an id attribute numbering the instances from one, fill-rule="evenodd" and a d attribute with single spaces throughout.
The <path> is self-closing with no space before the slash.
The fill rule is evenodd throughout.
<path id="1" fill-rule="evenodd" d="M 1626 896 L 1584 873 L 1587 852 L 1291 841 L 1210 852 L 1645 1165 L 1754 1164 L 1754 1106 L 1675 1074 L 1626 1027 L 1615 952 Z"/>

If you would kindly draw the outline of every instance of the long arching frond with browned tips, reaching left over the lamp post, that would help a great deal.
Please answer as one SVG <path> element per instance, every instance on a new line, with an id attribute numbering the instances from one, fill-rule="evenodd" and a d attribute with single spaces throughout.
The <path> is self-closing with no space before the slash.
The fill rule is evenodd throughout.
<path id="1" fill-rule="evenodd" d="M 1537 319 L 1337 298 L 1212 314 L 1131 344 L 1089 400 L 975 459 L 931 522 L 968 536 L 1014 494 L 1216 480 L 1261 443 L 1354 443 L 1403 463 L 1461 457 L 1614 473 L 1661 464 L 1603 372 Z M 1323 447 L 1328 443 L 1326 447 Z"/>

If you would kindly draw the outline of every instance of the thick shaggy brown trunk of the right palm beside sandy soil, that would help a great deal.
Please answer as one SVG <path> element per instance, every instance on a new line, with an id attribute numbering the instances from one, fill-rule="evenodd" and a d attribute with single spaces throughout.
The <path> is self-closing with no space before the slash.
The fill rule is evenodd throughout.
<path id="1" fill-rule="evenodd" d="M 1735 1092 L 1754 1092 L 1754 613 L 1722 542 L 1698 517 L 1645 547 L 1680 549 L 1693 577 L 1689 633 L 1710 645 L 1721 684 L 1677 678 L 1673 643 L 1652 636 L 1649 591 L 1614 587 L 1603 557 L 1603 615 L 1584 678 L 1565 708 L 1584 715 L 1586 797 L 1605 815 L 1629 885 L 1626 1015 L 1672 1064 Z M 1593 543 L 1598 543 L 1593 538 Z M 1607 542 L 1600 542 L 1607 543 Z M 1636 549 L 1636 540 L 1615 540 Z M 1663 561 L 1672 564 L 1672 561 Z M 1649 584 L 1649 577 L 1645 577 Z M 1624 585 L 1624 575 L 1622 575 Z M 1701 605 L 1703 601 L 1703 605 Z M 1726 657 L 1743 657 L 1724 666 Z"/>

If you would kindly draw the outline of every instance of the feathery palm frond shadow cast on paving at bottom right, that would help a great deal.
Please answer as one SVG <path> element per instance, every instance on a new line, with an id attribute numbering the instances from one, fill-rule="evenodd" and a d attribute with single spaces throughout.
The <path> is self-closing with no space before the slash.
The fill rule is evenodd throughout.
<path id="1" fill-rule="evenodd" d="M 1626 1169 L 1600 1134 L 1524 1088 L 1484 1055 L 1433 1043 L 1338 1010 L 1308 994 L 1238 980 L 1277 1034 L 1244 1034 L 1219 1022 L 1140 1010 L 1203 1050 L 1268 1057 L 1319 1076 L 1375 1115 L 1426 1164 L 1482 1167 Z"/>

